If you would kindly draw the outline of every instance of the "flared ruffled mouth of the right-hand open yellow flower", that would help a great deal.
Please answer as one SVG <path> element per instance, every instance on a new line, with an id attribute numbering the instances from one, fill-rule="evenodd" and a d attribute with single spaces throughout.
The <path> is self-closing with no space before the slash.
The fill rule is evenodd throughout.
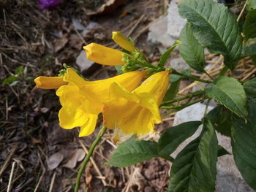
<path id="1" fill-rule="evenodd" d="M 157 101 L 148 93 L 129 93 L 113 82 L 111 100 L 103 107 L 103 120 L 108 128 L 120 128 L 126 134 L 140 136 L 154 131 L 161 123 Z"/>

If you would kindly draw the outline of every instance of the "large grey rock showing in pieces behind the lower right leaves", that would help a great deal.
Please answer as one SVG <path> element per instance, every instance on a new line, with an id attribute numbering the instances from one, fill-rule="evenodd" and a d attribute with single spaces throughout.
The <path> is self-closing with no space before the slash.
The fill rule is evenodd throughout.
<path id="1" fill-rule="evenodd" d="M 201 120 L 205 111 L 205 104 L 193 104 L 176 113 L 173 126 L 176 126 L 180 123 L 184 123 L 192 120 Z M 208 111 L 213 109 L 213 107 L 208 106 Z M 195 134 L 192 137 L 189 137 L 172 154 L 173 157 L 176 157 L 179 152 L 186 145 L 189 144 L 193 139 L 199 136 L 202 128 L 198 128 Z M 232 154 L 232 147 L 230 143 L 230 138 L 225 137 L 222 134 L 217 133 L 217 138 L 219 145 L 225 147 L 225 149 Z M 233 155 L 223 155 L 218 158 L 217 162 L 217 182 L 216 182 L 216 191 L 217 192 L 253 192 L 251 188 L 245 183 L 244 179 L 241 177 L 240 172 L 238 171 Z"/>

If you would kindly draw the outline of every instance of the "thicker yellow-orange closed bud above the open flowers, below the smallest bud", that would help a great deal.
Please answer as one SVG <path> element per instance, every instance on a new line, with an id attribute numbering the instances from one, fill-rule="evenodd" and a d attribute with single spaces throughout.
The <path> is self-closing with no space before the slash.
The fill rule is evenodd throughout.
<path id="1" fill-rule="evenodd" d="M 86 50 L 87 58 L 97 64 L 118 66 L 124 65 L 122 61 L 123 52 L 114 50 L 97 43 L 91 43 L 83 47 Z"/>

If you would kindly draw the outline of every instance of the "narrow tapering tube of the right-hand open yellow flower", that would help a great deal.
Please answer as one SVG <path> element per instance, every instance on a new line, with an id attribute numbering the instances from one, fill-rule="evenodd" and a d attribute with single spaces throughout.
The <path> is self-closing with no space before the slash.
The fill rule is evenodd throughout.
<path id="1" fill-rule="evenodd" d="M 169 71 L 165 71 L 151 75 L 133 93 L 150 93 L 157 104 L 161 104 L 168 88 L 169 73 Z"/>

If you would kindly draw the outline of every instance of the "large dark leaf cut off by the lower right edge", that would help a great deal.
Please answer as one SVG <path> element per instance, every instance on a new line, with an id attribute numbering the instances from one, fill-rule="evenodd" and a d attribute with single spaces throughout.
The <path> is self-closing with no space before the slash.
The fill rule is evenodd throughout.
<path id="1" fill-rule="evenodd" d="M 234 160 L 246 183 L 256 190 L 256 99 L 248 104 L 249 120 L 233 118 L 231 145 Z"/>

